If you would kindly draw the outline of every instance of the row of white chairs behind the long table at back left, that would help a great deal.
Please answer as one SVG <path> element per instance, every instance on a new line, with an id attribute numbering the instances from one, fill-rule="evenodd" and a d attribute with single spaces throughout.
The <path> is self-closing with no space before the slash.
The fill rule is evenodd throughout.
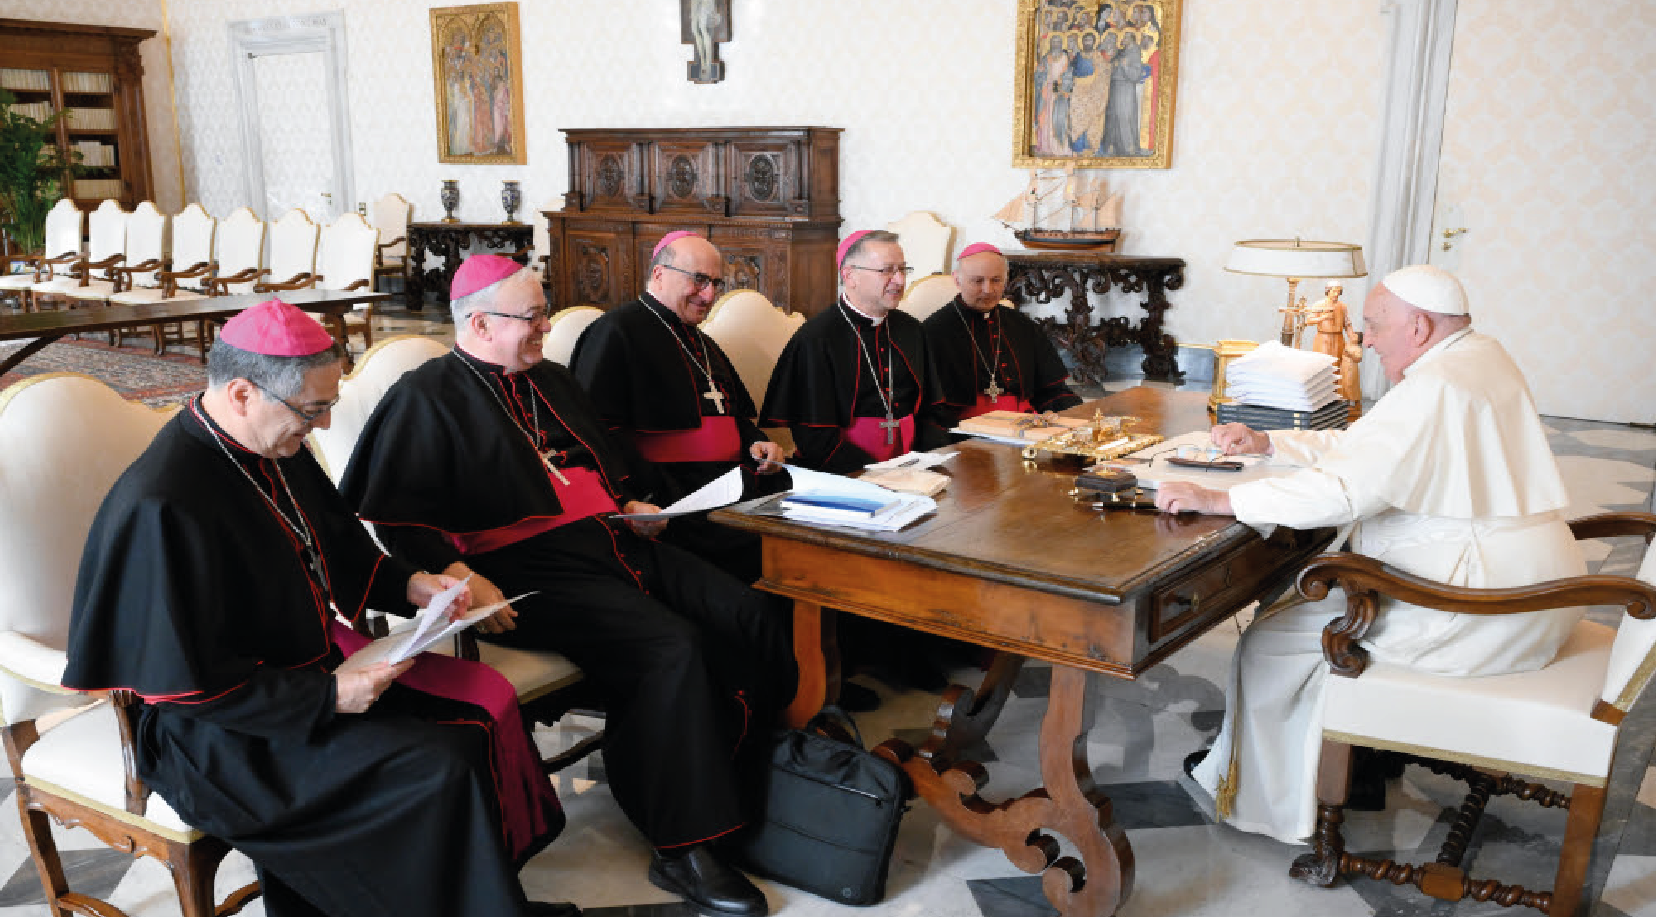
<path id="1" fill-rule="evenodd" d="M 217 221 L 200 204 L 169 217 L 149 201 L 131 212 L 118 201 L 104 201 L 89 216 L 70 199 L 58 201 L 46 214 L 45 239 L 41 252 L 12 259 L 30 270 L 0 275 L 0 295 L 17 295 L 25 312 L 51 300 L 71 307 L 146 305 L 227 294 L 371 289 L 381 252 L 379 234 L 358 214 L 318 227 L 305 211 L 293 209 L 267 229 L 249 207 Z M 355 312 L 346 328 L 363 333 L 365 348 L 373 347 L 373 303 Z M 205 352 L 202 325 L 197 342 Z M 156 352 L 166 345 L 167 335 L 156 328 Z"/>

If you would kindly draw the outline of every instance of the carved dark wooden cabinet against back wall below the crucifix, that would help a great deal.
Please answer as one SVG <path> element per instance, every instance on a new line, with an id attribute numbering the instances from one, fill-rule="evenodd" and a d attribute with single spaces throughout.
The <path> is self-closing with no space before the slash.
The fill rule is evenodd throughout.
<path id="1" fill-rule="evenodd" d="M 731 289 L 805 315 L 833 302 L 838 128 L 563 133 L 570 191 L 562 211 L 542 214 L 558 308 L 635 298 L 651 249 L 676 229 L 719 245 Z"/>

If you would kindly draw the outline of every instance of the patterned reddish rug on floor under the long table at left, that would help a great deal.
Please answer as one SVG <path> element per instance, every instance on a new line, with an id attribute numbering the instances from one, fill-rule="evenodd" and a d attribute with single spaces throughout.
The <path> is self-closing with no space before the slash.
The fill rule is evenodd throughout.
<path id="1" fill-rule="evenodd" d="M 27 343 L 0 343 L 0 358 L 17 353 Z M 0 376 L 0 390 L 41 373 L 86 373 L 123 398 L 151 406 L 181 403 L 207 385 L 207 368 L 197 361 L 194 350 L 172 348 L 166 357 L 156 357 L 144 337 L 119 348 L 91 340 L 48 343 Z"/>

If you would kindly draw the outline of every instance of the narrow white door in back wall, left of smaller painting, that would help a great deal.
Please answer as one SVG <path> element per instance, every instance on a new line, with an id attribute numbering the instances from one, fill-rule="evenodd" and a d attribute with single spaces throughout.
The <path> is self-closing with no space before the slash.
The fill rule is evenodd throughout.
<path id="1" fill-rule="evenodd" d="M 260 169 L 265 219 L 303 207 L 330 224 L 335 202 L 335 141 L 328 119 L 330 65 L 321 51 L 267 53 L 252 61 L 258 99 Z"/>

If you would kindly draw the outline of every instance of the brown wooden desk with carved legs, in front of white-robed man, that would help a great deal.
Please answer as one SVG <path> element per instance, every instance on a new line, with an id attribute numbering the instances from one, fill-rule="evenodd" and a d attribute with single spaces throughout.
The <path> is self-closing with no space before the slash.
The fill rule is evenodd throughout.
<path id="1" fill-rule="evenodd" d="M 1208 425 L 1206 395 L 1133 388 L 1069 413 L 1140 418 L 1138 431 Z M 1074 499 L 1074 466 L 1026 461 L 1016 446 L 969 441 L 943 466 L 953 476 L 938 511 L 901 532 L 792 522 L 749 501 L 714 519 L 764 539 L 761 587 L 794 599 L 800 685 L 792 723 L 838 693 L 833 610 L 1004 650 L 984 687 L 953 687 L 920 750 L 878 751 L 959 834 L 1044 872 L 1047 900 L 1067 917 L 1115 914 L 1133 885 L 1133 852 L 1092 783 L 1084 718 L 1087 675 L 1135 678 L 1249 602 L 1284 589 L 1331 532 L 1279 529 L 1269 539 L 1220 516 L 1100 512 Z M 1017 657 L 1054 663 L 1042 718 L 1042 788 L 1017 799 L 978 796 L 983 766 L 959 750 L 1006 700 Z M 1059 856 L 1052 834 L 1080 862 Z"/>

